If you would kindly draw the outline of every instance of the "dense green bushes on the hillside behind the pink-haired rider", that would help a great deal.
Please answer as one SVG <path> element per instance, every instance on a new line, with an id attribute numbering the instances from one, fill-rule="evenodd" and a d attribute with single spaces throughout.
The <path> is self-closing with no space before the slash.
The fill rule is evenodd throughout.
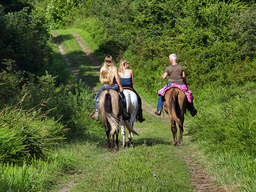
<path id="1" fill-rule="evenodd" d="M 141 82 L 151 92 L 162 88 L 161 76 L 154 77 L 152 73 L 163 73 L 171 53 L 176 53 L 178 62 L 185 67 L 189 84 L 254 81 L 252 71 L 246 70 L 254 68 L 255 63 L 254 10 L 254 5 L 215 0 L 98 0 L 91 5 L 91 15 L 102 23 L 107 42 L 99 48 L 108 46 L 108 53 L 117 60 L 126 51 L 132 52 L 126 60 L 133 60 L 132 54 L 136 55 L 137 60 L 133 61 L 137 76 L 153 77 L 148 83 Z M 83 28 L 79 24 L 76 27 Z M 90 32 L 92 36 L 97 31 L 95 27 L 89 30 L 94 31 Z M 234 65 L 237 62 L 248 67 Z M 151 68 L 156 63 L 158 66 Z M 140 70 L 146 66 L 146 70 Z M 152 83 L 156 87 L 151 89 Z"/>

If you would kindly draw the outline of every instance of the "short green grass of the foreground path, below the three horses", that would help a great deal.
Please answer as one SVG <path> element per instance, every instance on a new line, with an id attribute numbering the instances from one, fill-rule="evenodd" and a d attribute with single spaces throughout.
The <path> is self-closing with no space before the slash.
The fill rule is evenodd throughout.
<path id="1" fill-rule="evenodd" d="M 170 124 L 148 114 L 145 114 L 145 118 L 147 121 L 142 124 L 135 123 L 140 136 L 134 136 L 133 146 L 120 149 L 117 153 L 99 148 L 85 153 L 82 144 L 76 144 L 76 147 L 72 145 L 72 151 L 76 151 L 73 157 L 79 162 L 76 170 L 83 170 L 84 173 L 77 177 L 78 184 L 71 191 L 192 192 L 194 186 L 180 153 L 181 148 L 172 146 Z M 106 147 L 106 136 L 103 137 L 100 146 Z M 121 140 L 119 134 L 120 147 Z"/>

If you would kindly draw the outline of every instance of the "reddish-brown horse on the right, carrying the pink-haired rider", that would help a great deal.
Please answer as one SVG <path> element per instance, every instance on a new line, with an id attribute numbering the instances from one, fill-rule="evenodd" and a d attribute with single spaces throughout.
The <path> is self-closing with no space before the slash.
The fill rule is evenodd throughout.
<path id="1" fill-rule="evenodd" d="M 164 96 L 163 108 L 167 114 L 169 114 L 169 120 L 172 128 L 172 144 L 174 146 L 182 145 L 182 133 L 184 114 L 187 110 L 187 96 L 185 92 L 181 91 L 177 87 L 169 89 Z M 177 140 L 177 127 L 176 122 L 180 127 L 179 140 Z"/>

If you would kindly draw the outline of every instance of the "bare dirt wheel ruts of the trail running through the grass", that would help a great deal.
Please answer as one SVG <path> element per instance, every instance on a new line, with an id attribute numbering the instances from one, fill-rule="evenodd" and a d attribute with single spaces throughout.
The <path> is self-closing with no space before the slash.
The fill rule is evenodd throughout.
<path id="1" fill-rule="evenodd" d="M 74 38 L 77 40 L 78 44 L 81 46 L 81 48 L 84 50 L 85 54 L 90 58 L 90 60 L 92 61 L 92 65 L 94 65 L 94 69 L 97 71 L 100 71 L 100 63 L 97 60 L 96 56 L 93 55 L 92 51 L 90 50 L 89 47 L 85 46 L 83 44 L 84 40 L 82 37 L 80 37 L 78 34 L 76 33 L 72 33 L 70 32 Z M 82 79 L 81 76 L 78 75 L 78 70 L 71 65 L 71 63 L 69 62 L 68 58 L 66 57 L 66 53 L 63 51 L 63 49 L 61 48 L 61 44 L 57 38 L 57 36 L 52 33 L 52 36 L 56 42 L 56 44 L 58 44 L 59 50 L 61 55 L 63 55 L 63 58 L 66 60 L 66 62 L 68 63 L 68 66 L 70 68 L 70 70 L 72 71 L 72 73 L 76 76 L 77 79 L 81 79 L 81 81 L 87 85 L 90 86 L 90 89 L 97 93 L 98 91 L 95 89 L 95 87 L 91 86 L 88 82 L 86 82 L 84 79 Z M 151 109 L 146 108 L 145 106 L 142 105 L 142 108 L 147 111 L 150 115 L 155 115 L 154 111 L 152 111 Z M 159 116 L 157 116 L 159 117 Z M 169 119 L 167 118 L 168 116 L 165 115 L 165 117 L 163 117 L 163 115 L 160 116 L 160 118 L 165 121 L 165 122 L 169 122 Z M 182 150 L 180 150 L 181 153 L 183 153 Z M 196 185 L 196 192 L 227 192 L 227 190 L 225 189 L 220 189 L 217 186 L 213 185 L 213 181 L 210 179 L 209 175 L 204 171 L 204 169 L 202 168 L 202 165 L 200 164 L 200 162 L 195 162 L 192 161 L 193 158 L 193 154 L 188 156 L 188 155 L 184 155 L 184 161 L 186 162 L 186 164 L 188 165 L 188 169 L 191 172 L 191 182 Z M 64 192 L 64 191 L 68 191 L 70 189 L 70 187 L 74 186 L 75 184 L 69 183 L 68 186 L 64 189 L 60 189 L 59 192 Z"/>

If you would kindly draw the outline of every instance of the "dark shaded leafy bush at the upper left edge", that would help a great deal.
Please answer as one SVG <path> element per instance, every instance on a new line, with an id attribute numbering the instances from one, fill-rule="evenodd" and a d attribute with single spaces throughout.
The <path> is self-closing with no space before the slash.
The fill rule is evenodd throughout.
<path id="1" fill-rule="evenodd" d="M 0 9 L 0 23 L 0 62 L 11 59 L 20 70 L 32 73 L 42 70 L 47 34 L 40 18 L 28 8 L 8 14 Z"/>

